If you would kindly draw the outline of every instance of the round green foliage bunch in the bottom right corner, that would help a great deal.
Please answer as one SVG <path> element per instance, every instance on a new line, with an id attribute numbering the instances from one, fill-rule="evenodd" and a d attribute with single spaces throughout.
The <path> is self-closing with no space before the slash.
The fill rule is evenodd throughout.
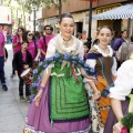
<path id="1" fill-rule="evenodd" d="M 126 129 L 132 129 L 133 127 L 133 112 L 127 113 L 124 115 L 123 119 L 121 119 L 121 123 L 126 127 Z"/>

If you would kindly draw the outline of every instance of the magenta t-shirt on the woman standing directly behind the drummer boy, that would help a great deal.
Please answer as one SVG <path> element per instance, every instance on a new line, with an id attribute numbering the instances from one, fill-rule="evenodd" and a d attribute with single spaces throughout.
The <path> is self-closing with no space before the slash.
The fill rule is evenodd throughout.
<path id="1" fill-rule="evenodd" d="M 18 52 L 21 49 L 21 42 L 20 42 L 20 37 L 19 35 L 13 35 L 13 44 L 18 43 L 14 48 L 13 48 L 13 53 Z"/>

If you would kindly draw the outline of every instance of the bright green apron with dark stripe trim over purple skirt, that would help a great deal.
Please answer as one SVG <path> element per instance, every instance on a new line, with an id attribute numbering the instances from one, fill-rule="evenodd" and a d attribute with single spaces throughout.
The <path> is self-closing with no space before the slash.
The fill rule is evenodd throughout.
<path id="1" fill-rule="evenodd" d="M 76 82 L 70 66 L 60 71 L 61 63 L 55 63 L 52 71 L 64 76 L 51 79 L 50 119 L 53 121 L 75 121 L 89 117 L 89 104 L 81 75 Z M 76 69 L 76 68 L 75 68 Z M 76 69 L 78 73 L 78 69 Z"/>

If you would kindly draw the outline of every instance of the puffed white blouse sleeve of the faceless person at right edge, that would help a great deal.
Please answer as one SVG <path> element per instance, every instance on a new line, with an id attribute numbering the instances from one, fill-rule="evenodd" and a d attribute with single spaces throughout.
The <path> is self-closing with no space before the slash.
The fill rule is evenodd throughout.
<path id="1" fill-rule="evenodd" d="M 110 89 L 110 98 L 125 100 L 133 89 L 133 60 L 125 61 L 117 71 L 114 86 Z"/>

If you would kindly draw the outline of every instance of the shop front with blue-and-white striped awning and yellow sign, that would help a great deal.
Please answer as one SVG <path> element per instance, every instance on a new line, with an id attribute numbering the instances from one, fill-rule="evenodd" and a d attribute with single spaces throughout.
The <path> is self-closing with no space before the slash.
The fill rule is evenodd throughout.
<path id="1" fill-rule="evenodd" d="M 122 6 L 121 3 L 96 9 L 93 20 L 98 20 L 98 27 L 110 25 L 116 34 L 122 30 L 127 30 L 131 33 L 131 20 L 133 17 L 133 3 Z"/>

